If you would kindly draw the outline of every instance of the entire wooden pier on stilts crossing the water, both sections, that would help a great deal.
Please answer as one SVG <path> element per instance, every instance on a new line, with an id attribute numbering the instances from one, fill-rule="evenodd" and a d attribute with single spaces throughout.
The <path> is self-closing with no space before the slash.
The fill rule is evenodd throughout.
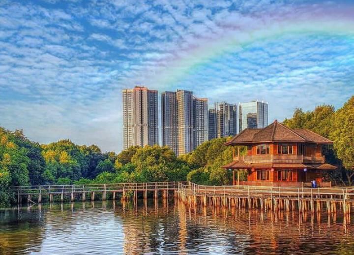
<path id="1" fill-rule="evenodd" d="M 10 192 L 21 203 L 23 197 L 28 201 L 42 202 L 91 201 L 100 196 L 106 199 L 133 199 L 138 195 L 143 199 L 160 197 L 167 199 L 173 195 L 183 203 L 228 208 L 260 208 L 271 211 L 300 211 L 344 214 L 351 212 L 354 205 L 354 187 L 343 188 L 292 188 L 267 186 L 204 186 L 191 182 L 155 182 L 155 183 L 118 183 L 97 185 L 46 185 L 11 187 Z"/>

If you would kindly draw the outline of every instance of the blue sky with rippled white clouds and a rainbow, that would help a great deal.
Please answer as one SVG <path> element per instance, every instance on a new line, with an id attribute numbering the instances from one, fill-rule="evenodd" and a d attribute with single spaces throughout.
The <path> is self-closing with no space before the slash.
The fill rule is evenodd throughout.
<path id="1" fill-rule="evenodd" d="M 268 102 L 354 95 L 354 0 L 0 0 L 0 126 L 122 149 L 121 90 Z"/>

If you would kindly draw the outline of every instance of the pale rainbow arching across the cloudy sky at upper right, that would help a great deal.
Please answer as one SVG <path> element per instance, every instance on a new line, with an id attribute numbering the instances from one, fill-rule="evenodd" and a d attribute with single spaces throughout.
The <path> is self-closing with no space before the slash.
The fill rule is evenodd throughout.
<path id="1" fill-rule="evenodd" d="M 197 40 L 196 44 L 200 46 L 172 52 L 175 57 L 160 60 L 161 70 L 154 73 L 152 83 L 160 88 L 168 88 L 196 68 L 221 59 L 226 54 L 241 51 L 243 47 L 258 41 L 279 39 L 286 35 L 300 37 L 311 34 L 354 40 L 354 5 L 328 7 L 320 13 L 309 13 L 307 10 L 301 15 L 291 14 L 282 19 L 275 17 L 266 22 L 260 19 L 259 22 L 261 24 L 252 29 L 225 27 L 223 35 L 216 39 Z"/>

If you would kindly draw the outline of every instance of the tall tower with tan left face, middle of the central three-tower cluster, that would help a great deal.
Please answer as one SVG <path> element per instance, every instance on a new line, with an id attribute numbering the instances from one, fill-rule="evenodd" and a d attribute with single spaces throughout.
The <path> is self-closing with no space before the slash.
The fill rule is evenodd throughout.
<path id="1" fill-rule="evenodd" d="M 193 92 L 177 90 L 177 155 L 194 149 Z"/>

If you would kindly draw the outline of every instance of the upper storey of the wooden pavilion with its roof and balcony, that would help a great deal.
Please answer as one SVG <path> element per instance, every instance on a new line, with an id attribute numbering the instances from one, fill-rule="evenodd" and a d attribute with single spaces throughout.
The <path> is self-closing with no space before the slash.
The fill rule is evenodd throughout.
<path id="1" fill-rule="evenodd" d="M 234 160 L 247 163 L 323 164 L 323 146 L 332 141 L 310 130 L 291 129 L 275 121 L 262 129 L 245 129 L 226 144 L 233 146 Z M 236 146 L 246 146 L 246 155 L 239 155 Z"/>

